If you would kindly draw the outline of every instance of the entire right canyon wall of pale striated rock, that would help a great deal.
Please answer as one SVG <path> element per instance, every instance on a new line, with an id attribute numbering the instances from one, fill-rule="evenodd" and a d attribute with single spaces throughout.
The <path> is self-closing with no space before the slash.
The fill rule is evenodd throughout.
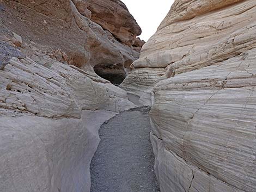
<path id="1" fill-rule="evenodd" d="M 162 192 L 256 191 L 255 21 L 254 0 L 176 0 L 121 84 L 153 103 Z"/>

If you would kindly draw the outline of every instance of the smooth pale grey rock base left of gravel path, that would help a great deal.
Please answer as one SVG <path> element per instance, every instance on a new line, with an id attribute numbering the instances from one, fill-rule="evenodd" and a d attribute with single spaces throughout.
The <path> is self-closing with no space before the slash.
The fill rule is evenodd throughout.
<path id="1" fill-rule="evenodd" d="M 90 191 L 97 131 L 115 113 L 84 110 L 81 119 L 0 117 L 0 191 Z"/>

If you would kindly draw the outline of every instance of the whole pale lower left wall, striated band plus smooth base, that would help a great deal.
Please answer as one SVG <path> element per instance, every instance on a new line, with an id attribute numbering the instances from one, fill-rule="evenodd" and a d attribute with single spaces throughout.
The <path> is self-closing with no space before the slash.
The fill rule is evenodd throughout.
<path id="1" fill-rule="evenodd" d="M 89 191 L 97 130 L 135 106 L 94 74 L 44 61 L 13 57 L 0 70 L 0 191 Z"/>

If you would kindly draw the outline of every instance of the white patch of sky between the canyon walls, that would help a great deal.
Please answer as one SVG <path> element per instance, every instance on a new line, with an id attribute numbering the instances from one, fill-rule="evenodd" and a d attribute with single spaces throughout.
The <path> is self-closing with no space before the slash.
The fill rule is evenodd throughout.
<path id="1" fill-rule="evenodd" d="M 147 41 L 166 17 L 174 0 L 121 0 L 142 28 L 139 36 Z"/>

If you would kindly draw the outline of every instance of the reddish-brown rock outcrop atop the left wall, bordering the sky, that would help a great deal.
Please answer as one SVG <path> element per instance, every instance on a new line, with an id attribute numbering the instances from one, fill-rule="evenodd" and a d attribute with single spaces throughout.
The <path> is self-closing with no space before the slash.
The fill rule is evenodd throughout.
<path id="1" fill-rule="evenodd" d="M 135 44 L 136 36 L 140 35 L 142 31 L 123 2 L 119 0 L 86 0 L 86 4 L 94 22 L 111 32 L 124 44 L 137 46 Z"/>

